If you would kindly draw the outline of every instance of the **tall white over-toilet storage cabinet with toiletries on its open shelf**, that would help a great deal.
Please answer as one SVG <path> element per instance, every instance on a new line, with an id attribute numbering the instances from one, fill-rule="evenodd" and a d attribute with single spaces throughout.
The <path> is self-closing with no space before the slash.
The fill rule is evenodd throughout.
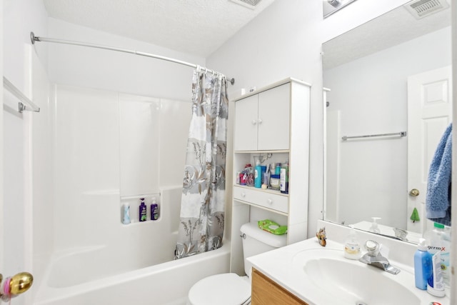
<path id="1" fill-rule="evenodd" d="M 307 237 L 310 89 L 288 78 L 235 100 L 231 272 L 244 274 L 238 236 L 246 222 L 286 224 L 288 244 Z M 263 165 L 288 161 L 288 194 L 236 184 L 238 171 L 254 164 L 253 156 L 268 158 Z"/>

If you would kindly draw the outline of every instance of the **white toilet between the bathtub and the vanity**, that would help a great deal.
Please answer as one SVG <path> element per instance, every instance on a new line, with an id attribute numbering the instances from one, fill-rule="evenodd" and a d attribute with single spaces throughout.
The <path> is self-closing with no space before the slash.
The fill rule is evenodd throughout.
<path id="1" fill-rule="evenodd" d="M 246 259 L 286 246 L 287 236 L 268 233 L 252 223 L 243 224 L 240 231 L 243 237 L 244 271 L 247 276 L 227 273 L 201 279 L 189 290 L 188 305 L 251 304 L 251 264 Z"/>

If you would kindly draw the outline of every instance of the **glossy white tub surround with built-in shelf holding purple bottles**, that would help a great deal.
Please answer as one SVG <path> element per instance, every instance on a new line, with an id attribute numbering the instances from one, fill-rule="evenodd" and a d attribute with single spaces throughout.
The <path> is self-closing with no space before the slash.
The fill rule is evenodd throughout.
<path id="1" fill-rule="evenodd" d="M 96 296 L 88 291 L 115 286 L 113 278 L 129 282 L 132 272 L 142 277 L 135 271 L 173 260 L 187 136 L 174 131 L 187 129 L 191 109 L 184 101 L 59 84 L 52 96 L 55 204 L 46 213 L 54 216 L 54 251 L 31 289 L 37 304 L 79 293 L 90 299 Z M 158 220 L 136 222 L 143 196 L 148 213 L 156 196 Z M 126 203 L 132 218 L 127 225 L 121 221 Z"/>

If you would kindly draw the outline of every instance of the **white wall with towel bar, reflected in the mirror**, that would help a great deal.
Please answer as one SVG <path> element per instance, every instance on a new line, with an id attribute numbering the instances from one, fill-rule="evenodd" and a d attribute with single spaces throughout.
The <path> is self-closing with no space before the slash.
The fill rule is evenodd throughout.
<path id="1" fill-rule="evenodd" d="M 408 76 L 450 65 L 450 37 L 448 27 L 326 70 L 324 86 L 331 88 L 327 111 L 340 111 L 338 133 L 358 136 L 407 131 Z M 328 124 L 332 124 L 330 119 Z M 377 216 L 380 224 L 406 229 L 411 215 L 405 193 L 407 138 L 336 141 L 340 156 L 328 151 L 328 157 L 339 158 L 339 172 L 333 169 L 332 174 L 339 175 L 340 184 L 327 187 L 339 190 L 340 214 L 329 220 L 353 224 Z"/>

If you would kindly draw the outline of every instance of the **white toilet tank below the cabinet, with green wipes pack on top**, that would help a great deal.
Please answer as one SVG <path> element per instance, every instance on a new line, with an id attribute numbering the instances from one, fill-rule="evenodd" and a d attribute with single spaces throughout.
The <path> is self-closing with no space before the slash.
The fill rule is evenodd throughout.
<path id="1" fill-rule="evenodd" d="M 287 244 L 287 234 L 275 235 L 263 231 L 257 224 L 250 222 L 243 224 L 240 231 L 241 236 L 243 236 L 244 271 L 249 278 L 251 278 L 252 265 L 246 261 L 248 257 L 277 249 Z"/>

